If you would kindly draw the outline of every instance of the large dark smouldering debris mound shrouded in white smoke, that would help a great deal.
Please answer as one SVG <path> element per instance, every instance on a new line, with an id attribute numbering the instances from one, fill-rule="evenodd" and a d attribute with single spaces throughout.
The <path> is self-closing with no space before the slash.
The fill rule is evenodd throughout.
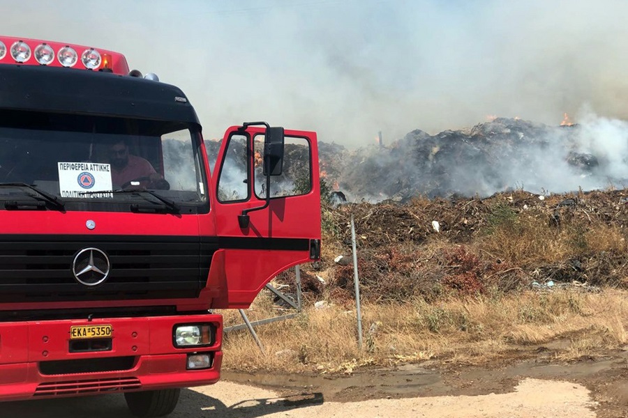
<path id="1" fill-rule="evenodd" d="M 340 187 L 352 201 L 403 202 L 419 195 L 486 197 L 509 189 L 560 193 L 622 186 L 628 165 L 615 164 L 597 146 L 605 133 L 565 117 L 560 126 L 495 118 L 435 135 L 414 130 L 389 148 L 354 154 L 354 161 L 344 163 Z"/>

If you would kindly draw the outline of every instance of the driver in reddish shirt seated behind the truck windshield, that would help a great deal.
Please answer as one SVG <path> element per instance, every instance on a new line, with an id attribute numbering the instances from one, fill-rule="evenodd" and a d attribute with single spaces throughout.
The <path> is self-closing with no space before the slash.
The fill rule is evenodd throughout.
<path id="1" fill-rule="evenodd" d="M 111 164 L 111 180 L 114 188 L 129 186 L 158 187 L 165 183 L 148 160 L 128 152 L 128 144 L 121 140 L 110 146 L 107 151 Z"/>

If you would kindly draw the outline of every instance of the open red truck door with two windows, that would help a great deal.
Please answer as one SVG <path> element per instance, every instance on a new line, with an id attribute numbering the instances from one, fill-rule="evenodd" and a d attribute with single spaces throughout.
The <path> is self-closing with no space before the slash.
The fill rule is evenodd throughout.
<path id="1" fill-rule="evenodd" d="M 283 133 L 283 169 L 270 176 L 267 190 L 267 130 L 234 126 L 225 132 L 212 176 L 219 249 L 212 264 L 224 265 L 222 277 L 210 275 L 214 308 L 248 308 L 278 273 L 320 257 L 316 134 Z"/>

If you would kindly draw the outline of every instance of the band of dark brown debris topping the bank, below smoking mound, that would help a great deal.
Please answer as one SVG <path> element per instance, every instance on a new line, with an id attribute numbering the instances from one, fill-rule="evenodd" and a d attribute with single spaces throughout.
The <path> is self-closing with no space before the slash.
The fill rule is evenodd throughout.
<path id="1" fill-rule="evenodd" d="M 517 190 L 494 194 L 486 199 L 414 198 L 407 203 L 349 203 L 327 212 L 338 226 L 338 239 L 350 242 L 349 220 L 354 215 L 358 245 L 378 248 L 382 245 L 413 242 L 420 244 L 438 235 L 449 242 L 463 244 L 488 226 L 491 214 L 507 206 L 515 214 L 530 213 L 547 220 L 548 225 L 562 222 L 590 221 L 628 225 L 628 191 L 613 190 L 569 194 L 534 194 Z"/>

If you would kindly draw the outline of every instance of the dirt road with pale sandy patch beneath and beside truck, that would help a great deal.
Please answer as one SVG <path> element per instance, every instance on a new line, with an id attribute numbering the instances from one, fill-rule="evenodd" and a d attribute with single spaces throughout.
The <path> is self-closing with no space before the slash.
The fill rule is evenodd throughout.
<path id="1" fill-rule="evenodd" d="M 526 361 L 492 369 L 369 370 L 352 376 L 225 373 L 186 389 L 184 417 L 625 417 L 627 355 L 575 364 Z M 128 418 L 120 395 L 5 403 L 0 417 Z"/>

